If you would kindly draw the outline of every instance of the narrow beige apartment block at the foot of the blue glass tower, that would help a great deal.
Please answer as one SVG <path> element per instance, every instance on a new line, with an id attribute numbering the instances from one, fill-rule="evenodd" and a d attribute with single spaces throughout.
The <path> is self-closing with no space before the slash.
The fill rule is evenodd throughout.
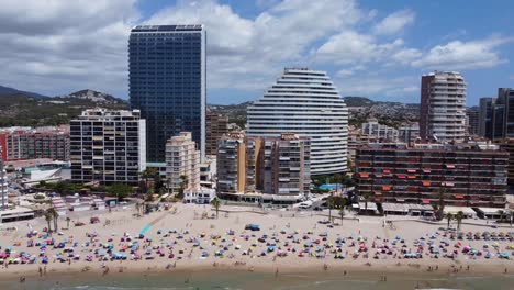
<path id="1" fill-rule="evenodd" d="M 200 189 L 200 152 L 191 132 L 181 132 L 166 143 L 166 180 L 172 193 L 179 192 L 182 182 L 187 182 L 186 190 Z"/>

